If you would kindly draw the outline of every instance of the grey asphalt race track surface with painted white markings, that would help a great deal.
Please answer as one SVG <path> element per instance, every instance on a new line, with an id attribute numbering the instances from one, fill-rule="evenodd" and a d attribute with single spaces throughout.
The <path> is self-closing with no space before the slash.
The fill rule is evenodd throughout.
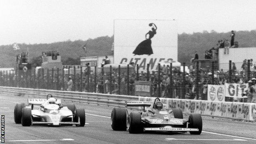
<path id="1" fill-rule="evenodd" d="M 256 144 L 256 123 L 203 117 L 201 135 L 114 131 L 113 107 L 76 104 L 85 108 L 85 127 L 29 126 L 14 123 L 14 106 L 27 97 L 0 94 L 0 114 L 5 115 L 5 143 L 9 144 Z M 130 111 L 130 110 L 129 110 Z M 184 116 L 187 118 L 187 116 Z"/>

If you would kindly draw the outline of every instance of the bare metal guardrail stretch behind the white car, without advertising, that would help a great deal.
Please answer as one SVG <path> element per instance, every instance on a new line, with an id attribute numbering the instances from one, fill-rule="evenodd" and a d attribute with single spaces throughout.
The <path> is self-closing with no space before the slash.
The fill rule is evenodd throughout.
<path id="1" fill-rule="evenodd" d="M 1 95 L 29 96 L 35 98 L 46 98 L 47 94 L 52 94 L 62 101 L 73 103 L 89 103 L 96 105 L 107 105 L 125 107 L 125 101 L 138 101 L 138 96 L 125 96 L 113 94 L 85 93 L 76 91 L 57 91 L 48 89 L 29 89 L 18 87 L 0 87 Z"/>

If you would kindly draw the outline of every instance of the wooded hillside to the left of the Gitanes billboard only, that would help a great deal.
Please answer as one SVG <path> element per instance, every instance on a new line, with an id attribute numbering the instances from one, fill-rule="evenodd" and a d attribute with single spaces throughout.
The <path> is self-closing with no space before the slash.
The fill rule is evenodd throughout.
<path id="1" fill-rule="evenodd" d="M 13 50 L 12 45 L 0 46 L 0 67 L 13 67 L 16 63 L 16 54 L 21 53 L 21 51 L 26 52 L 27 48 L 29 48 L 29 60 L 42 55 L 42 52 L 57 50 L 62 56 L 62 62 L 64 62 L 68 57 L 76 59 L 78 57 L 112 55 L 111 47 L 113 42 L 113 37 L 106 36 L 88 39 L 87 41 L 62 41 L 49 44 L 21 43 L 19 44 L 21 50 Z M 82 49 L 85 44 L 87 53 Z"/>

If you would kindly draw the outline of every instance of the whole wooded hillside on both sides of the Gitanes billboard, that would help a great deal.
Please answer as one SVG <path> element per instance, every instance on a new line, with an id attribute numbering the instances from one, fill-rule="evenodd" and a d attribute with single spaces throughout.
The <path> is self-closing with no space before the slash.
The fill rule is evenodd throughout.
<path id="1" fill-rule="evenodd" d="M 197 32 L 193 34 L 178 34 L 178 61 L 189 62 L 194 57 L 194 50 L 197 50 L 199 58 L 204 57 L 205 50 L 215 47 L 219 39 L 229 39 L 230 32 L 217 33 L 212 32 Z M 57 50 L 62 56 L 62 61 L 72 57 L 86 56 L 103 56 L 112 55 L 111 47 L 114 37 L 98 37 L 96 39 L 88 39 L 87 41 L 62 41 L 56 43 L 40 43 L 40 44 L 19 44 L 22 51 L 29 48 L 29 59 L 41 55 L 43 51 Z M 238 31 L 235 32 L 235 41 L 239 42 L 239 47 L 256 47 L 256 30 Z M 82 50 L 82 46 L 87 44 L 87 53 Z M 15 56 L 20 51 L 15 51 L 12 45 L 0 46 L 0 66 L 13 67 L 15 64 Z"/>

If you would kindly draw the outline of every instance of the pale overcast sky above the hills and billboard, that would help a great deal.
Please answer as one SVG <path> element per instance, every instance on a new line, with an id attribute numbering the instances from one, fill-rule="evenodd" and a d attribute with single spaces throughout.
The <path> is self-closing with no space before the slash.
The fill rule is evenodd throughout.
<path id="1" fill-rule="evenodd" d="M 112 36 L 114 19 L 176 19 L 178 33 L 256 30 L 256 0 L 0 0 L 0 45 Z"/>

